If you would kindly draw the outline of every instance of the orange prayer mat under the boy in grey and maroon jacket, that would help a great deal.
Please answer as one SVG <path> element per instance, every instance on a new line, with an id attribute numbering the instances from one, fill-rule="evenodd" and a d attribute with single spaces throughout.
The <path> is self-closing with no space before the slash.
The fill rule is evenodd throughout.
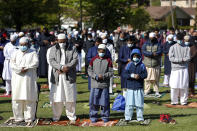
<path id="1" fill-rule="evenodd" d="M 107 127 L 107 126 L 115 126 L 119 120 L 110 120 L 106 123 L 102 120 L 98 120 L 96 123 L 92 123 L 90 119 L 84 119 L 79 126 L 88 127 L 88 126 L 95 126 L 95 127 Z"/>

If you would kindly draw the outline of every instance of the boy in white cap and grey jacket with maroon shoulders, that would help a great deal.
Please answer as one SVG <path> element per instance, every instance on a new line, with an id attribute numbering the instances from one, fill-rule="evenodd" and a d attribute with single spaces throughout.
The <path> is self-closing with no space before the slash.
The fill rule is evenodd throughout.
<path id="1" fill-rule="evenodd" d="M 98 55 L 92 58 L 88 67 L 88 75 L 91 77 L 89 105 L 92 123 L 97 122 L 100 108 L 102 120 L 104 122 L 109 121 L 109 86 L 110 78 L 113 76 L 113 66 L 111 59 L 105 55 L 105 51 L 105 44 L 100 44 Z"/>

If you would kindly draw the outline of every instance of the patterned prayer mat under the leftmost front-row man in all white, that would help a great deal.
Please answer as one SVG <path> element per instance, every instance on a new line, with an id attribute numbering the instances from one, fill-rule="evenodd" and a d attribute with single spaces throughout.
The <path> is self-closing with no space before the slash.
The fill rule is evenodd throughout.
<path id="1" fill-rule="evenodd" d="M 13 117 L 10 117 L 3 124 L 0 124 L 0 127 L 35 127 L 38 124 L 39 119 L 34 120 L 33 122 L 15 122 Z"/>

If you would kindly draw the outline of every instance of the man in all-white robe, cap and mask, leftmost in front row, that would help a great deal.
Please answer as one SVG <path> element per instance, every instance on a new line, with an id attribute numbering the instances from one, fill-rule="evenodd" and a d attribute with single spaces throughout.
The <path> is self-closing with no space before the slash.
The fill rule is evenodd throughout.
<path id="1" fill-rule="evenodd" d="M 36 52 L 29 49 L 27 37 L 22 37 L 19 43 L 19 50 L 13 54 L 10 61 L 12 69 L 12 110 L 15 122 L 31 123 L 35 119 L 38 98 L 36 70 L 39 61 Z"/>

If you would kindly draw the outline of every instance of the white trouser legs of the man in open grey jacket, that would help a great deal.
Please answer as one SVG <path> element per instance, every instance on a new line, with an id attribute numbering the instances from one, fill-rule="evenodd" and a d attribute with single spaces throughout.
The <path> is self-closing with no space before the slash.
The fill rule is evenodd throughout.
<path id="1" fill-rule="evenodd" d="M 75 102 L 52 102 L 52 110 L 53 110 L 53 120 L 58 121 L 61 117 L 63 107 L 65 104 L 65 109 L 66 109 L 66 116 L 68 117 L 69 120 L 76 120 L 76 115 L 75 115 L 75 108 L 76 108 L 76 103 Z"/>

